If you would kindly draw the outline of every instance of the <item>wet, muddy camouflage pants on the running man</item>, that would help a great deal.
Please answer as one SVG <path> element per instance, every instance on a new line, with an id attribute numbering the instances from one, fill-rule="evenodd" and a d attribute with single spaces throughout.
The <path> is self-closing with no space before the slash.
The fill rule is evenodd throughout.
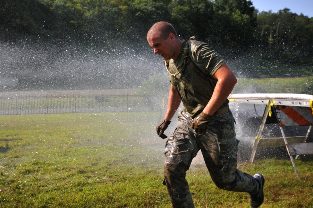
<path id="1" fill-rule="evenodd" d="M 177 127 L 165 147 L 163 184 L 167 186 L 173 207 L 194 207 L 185 176 L 199 150 L 218 188 L 256 193 L 259 187 L 255 179 L 237 169 L 239 141 L 235 138 L 232 113 L 214 117 L 204 134 L 196 134 L 191 122 L 186 113 L 178 112 Z"/>

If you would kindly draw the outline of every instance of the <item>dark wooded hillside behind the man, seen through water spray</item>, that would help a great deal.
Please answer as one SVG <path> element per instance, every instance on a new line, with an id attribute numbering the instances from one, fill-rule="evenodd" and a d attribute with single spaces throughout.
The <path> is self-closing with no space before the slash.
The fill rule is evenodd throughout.
<path id="1" fill-rule="evenodd" d="M 146 33 L 157 21 L 213 46 L 238 77 L 312 75 L 313 18 L 288 8 L 258 13 L 249 0 L 3 0 L 0 46 L 14 58 L 2 59 L 1 77 L 16 78 L 18 90 L 138 87 L 153 73 L 129 69 L 155 69 L 136 57 L 147 57 Z M 129 60 L 116 61 L 125 54 Z M 121 74 L 126 82 L 116 84 Z"/>

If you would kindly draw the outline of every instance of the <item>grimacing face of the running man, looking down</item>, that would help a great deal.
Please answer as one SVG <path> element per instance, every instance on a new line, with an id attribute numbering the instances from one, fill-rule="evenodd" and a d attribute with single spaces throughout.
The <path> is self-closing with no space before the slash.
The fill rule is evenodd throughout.
<path id="1" fill-rule="evenodd" d="M 175 55 L 175 50 L 172 47 L 173 39 L 169 35 L 167 39 L 156 35 L 148 35 L 147 40 L 149 45 L 153 48 L 153 52 L 163 57 L 164 60 L 172 59 Z"/>

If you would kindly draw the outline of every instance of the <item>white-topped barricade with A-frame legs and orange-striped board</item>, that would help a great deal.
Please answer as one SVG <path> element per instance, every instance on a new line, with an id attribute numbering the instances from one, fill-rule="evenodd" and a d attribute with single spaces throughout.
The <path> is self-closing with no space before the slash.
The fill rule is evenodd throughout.
<path id="1" fill-rule="evenodd" d="M 300 178 L 295 167 L 293 156 L 300 154 L 313 154 L 313 143 L 306 143 L 313 125 L 313 95 L 305 94 L 231 94 L 230 102 L 264 104 L 264 110 L 258 135 L 254 139 L 253 150 L 250 161 L 253 162 L 258 147 L 276 147 L 285 144 L 295 173 Z M 282 137 L 262 138 L 264 125 L 267 123 L 278 123 Z M 308 126 L 306 135 L 286 137 L 282 127 Z"/>

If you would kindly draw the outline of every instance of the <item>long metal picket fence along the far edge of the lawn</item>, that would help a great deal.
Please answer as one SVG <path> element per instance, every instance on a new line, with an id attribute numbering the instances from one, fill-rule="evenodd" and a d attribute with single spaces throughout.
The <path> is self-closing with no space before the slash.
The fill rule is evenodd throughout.
<path id="1" fill-rule="evenodd" d="M 160 110 L 156 103 L 143 95 L 0 96 L 0 115 Z"/>

